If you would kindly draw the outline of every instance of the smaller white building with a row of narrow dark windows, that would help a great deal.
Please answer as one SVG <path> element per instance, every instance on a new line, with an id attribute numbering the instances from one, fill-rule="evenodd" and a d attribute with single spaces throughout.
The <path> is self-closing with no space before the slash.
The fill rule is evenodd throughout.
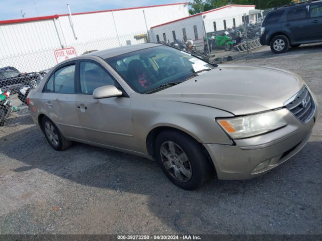
<path id="1" fill-rule="evenodd" d="M 153 26 L 150 29 L 150 38 L 153 42 L 183 40 L 191 38 L 195 43 L 203 41 L 205 30 L 207 33 L 237 27 L 246 21 L 254 21 L 249 16 L 255 5 L 227 5 L 218 9 L 177 19 L 168 23 Z M 250 19 L 250 18 L 254 18 Z"/>

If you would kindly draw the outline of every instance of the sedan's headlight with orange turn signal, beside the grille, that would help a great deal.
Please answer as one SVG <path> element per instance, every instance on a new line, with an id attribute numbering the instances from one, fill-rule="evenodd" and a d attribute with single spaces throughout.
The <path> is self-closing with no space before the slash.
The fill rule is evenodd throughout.
<path id="1" fill-rule="evenodd" d="M 243 117 L 217 119 L 217 123 L 232 139 L 257 136 L 287 125 L 284 119 L 273 111 Z"/>

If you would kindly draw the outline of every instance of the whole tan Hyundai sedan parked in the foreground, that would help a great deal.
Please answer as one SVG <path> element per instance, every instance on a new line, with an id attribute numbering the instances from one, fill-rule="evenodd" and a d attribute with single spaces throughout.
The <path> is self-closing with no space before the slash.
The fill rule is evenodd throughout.
<path id="1" fill-rule="evenodd" d="M 304 147 L 317 118 L 290 71 L 212 65 L 160 44 L 59 63 L 27 102 L 53 149 L 81 142 L 155 159 L 188 190 L 214 171 L 235 180 L 272 170 Z"/>

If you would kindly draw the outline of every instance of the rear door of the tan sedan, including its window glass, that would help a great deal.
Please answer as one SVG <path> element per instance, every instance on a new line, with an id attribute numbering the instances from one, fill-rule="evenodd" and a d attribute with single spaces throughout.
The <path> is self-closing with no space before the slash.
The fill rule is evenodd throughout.
<path id="1" fill-rule="evenodd" d="M 75 101 L 75 62 L 59 67 L 48 79 L 42 94 L 46 115 L 58 126 L 64 137 L 84 138 Z"/>

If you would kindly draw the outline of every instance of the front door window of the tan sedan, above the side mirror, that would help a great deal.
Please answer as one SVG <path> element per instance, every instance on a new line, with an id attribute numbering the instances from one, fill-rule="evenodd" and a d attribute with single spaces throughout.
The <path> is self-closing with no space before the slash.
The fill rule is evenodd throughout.
<path id="1" fill-rule="evenodd" d="M 93 94 L 93 91 L 104 85 L 114 85 L 114 79 L 99 65 L 93 62 L 81 62 L 80 66 L 82 93 Z"/>

